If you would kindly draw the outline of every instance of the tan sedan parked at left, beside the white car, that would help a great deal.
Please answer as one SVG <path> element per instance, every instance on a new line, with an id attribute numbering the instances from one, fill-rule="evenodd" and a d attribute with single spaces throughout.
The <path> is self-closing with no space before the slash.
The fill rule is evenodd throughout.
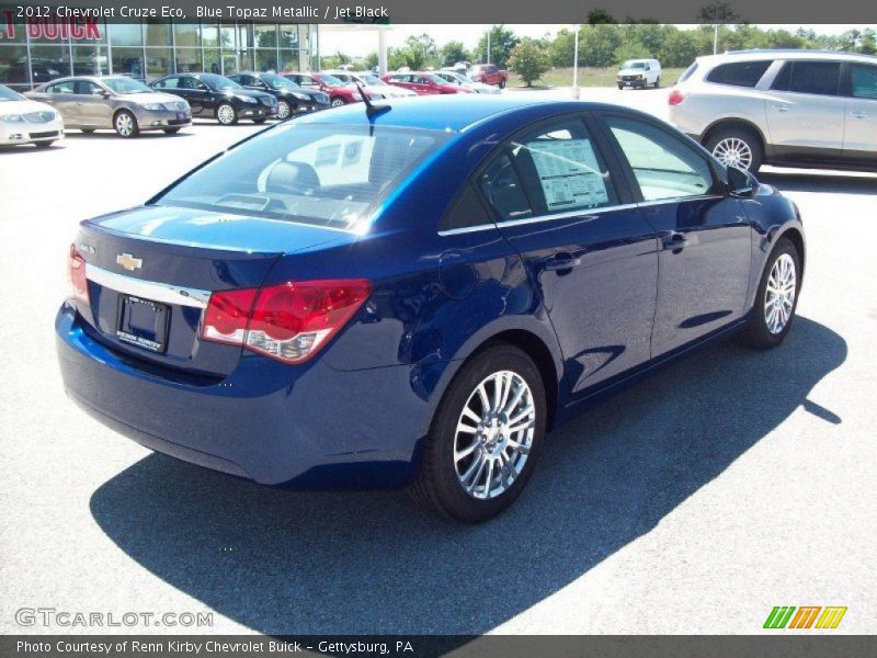
<path id="1" fill-rule="evenodd" d="M 163 131 L 173 135 L 192 124 L 184 100 L 126 76 L 58 78 L 25 95 L 48 103 L 68 129 L 83 133 L 115 131 L 119 137 L 136 137 L 143 131 Z"/>

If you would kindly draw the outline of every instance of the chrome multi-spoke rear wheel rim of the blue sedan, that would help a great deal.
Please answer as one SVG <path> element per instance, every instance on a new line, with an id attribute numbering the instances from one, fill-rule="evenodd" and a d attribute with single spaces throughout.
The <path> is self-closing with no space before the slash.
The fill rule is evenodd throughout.
<path id="1" fill-rule="evenodd" d="M 471 393 L 457 420 L 454 468 L 472 498 L 490 499 L 524 469 L 536 429 L 533 392 L 517 373 L 500 371 Z"/>

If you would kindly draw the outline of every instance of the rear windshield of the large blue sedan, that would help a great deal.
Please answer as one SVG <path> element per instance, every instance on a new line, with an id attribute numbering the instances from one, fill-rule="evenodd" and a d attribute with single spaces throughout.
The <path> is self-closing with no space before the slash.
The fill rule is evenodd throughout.
<path id="1" fill-rule="evenodd" d="M 288 124 L 244 141 L 152 203 L 357 231 L 447 138 L 413 128 Z"/>

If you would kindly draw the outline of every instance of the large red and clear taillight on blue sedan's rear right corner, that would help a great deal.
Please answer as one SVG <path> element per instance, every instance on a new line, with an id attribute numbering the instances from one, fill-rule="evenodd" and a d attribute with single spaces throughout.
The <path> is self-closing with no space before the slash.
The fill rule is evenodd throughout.
<path id="1" fill-rule="evenodd" d="M 372 284 L 362 279 L 220 291 L 207 303 L 201 338 L 303 363 L 353 317 L 371 292 Z"/>

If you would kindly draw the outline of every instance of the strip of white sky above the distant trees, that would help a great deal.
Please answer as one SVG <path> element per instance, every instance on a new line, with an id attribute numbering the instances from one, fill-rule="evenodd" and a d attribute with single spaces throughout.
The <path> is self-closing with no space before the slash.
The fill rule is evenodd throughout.
<path id="1" fill-rule="evenodd" d="M 679 25 L 691 27 L 690 25 Z M 348 26 L 345 26 L 348 27 Z M 519 36 L 542 37 L 545 34 L 556 34 L 562 27 L 571 25 L 509 25 Z M 785 29 L 795 31 L 798 27 L 811 29 L 819 34 L 841 34 L 851 29 L 875 27 L 874 25 L 760 25 L 763 29 Z M 409 36 L 426 32 L 438 46 L 449 41 L 462 41 L 467 48 L 474 48 L 480 36 L 487 31 L 488 25 L 392 25 L 387 32 L 387 45 L 391 48 L 401 46 Z M 377 50 L 376 32 L 356 32 L 346 29 L 342 32 L 327 30 L 320 26 L 320 53 L 323 56 L 333 55 L 341 50 L 352 57 L 365 57 Z"/>

